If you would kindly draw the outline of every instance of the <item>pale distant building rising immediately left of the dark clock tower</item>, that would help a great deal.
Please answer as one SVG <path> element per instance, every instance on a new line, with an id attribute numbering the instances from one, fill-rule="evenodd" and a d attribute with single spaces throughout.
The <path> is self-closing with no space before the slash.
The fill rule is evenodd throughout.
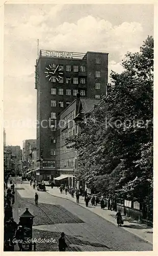
<path id="1" fill-rule="evenodd" d="M 36 146 L 36 139 L 23 140 L 22 141 L 22 169 L 28 170 L 29 168 L 29 154 L 30 154 L 30 146 Z"/>

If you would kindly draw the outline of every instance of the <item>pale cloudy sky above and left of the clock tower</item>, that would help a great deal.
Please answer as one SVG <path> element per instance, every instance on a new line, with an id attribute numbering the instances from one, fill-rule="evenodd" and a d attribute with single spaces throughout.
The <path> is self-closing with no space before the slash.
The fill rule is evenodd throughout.
<path id="1" fill-rule="evenodd" d="M 6 142 L 36 138 L 35 63 L 39 49 L 109 53 L 120 73 L 124 55 L 153 35 L 153 5 L 5 5 L 4 126 Z M 109 78 L 110 81 L 110 78 Z"/>

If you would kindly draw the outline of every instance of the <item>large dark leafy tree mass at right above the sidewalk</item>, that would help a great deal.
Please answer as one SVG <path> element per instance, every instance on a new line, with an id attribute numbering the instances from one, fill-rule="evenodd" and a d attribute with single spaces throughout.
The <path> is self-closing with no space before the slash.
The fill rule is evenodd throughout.
<path id="1" fill-rule="evenodd" d="M 122 66 L 121 74 L 111 73 L 112 92 L 77 123 L 80 133 L 66 143 L 78 152 L 78 179 L 142 201 L 153 176 L 153 38 L 148 36 L 140 52 L 128 52 Z"/>

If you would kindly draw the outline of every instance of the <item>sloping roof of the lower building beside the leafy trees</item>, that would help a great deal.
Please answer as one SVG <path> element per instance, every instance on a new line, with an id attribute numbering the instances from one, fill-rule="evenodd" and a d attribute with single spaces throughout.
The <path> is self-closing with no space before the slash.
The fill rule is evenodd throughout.
<path id="1" fill-rule="evenodd" d="M 81 103 L 82 103 L 84 113 L 87 114 L 95 109 L 95 106 L 97 106 L 100 103 L 100 99 L 81 98 Z"/>

